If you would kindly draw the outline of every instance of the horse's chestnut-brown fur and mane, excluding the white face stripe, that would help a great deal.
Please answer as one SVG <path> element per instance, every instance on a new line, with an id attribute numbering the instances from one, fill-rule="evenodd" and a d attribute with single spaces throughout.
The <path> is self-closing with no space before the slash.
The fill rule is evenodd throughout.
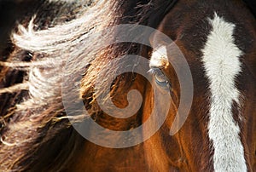
<path id="1" fill-rule="evenodd" d="M 5 52 L 6 58 L 0 57 L 0 87 L 3 88 L 0 89 L 0 171 L 212 171 L 212 143 L 207 136 L 209 83 L 199 57 L 212 29 L 207 18 L 214 12 L 236 24 L 234 37 L 244 52 L 242 73 L 237 79 L 237 88 L 244 97 L 241 108 L 244 120 L 238 122 L 236 105 L 233 105 L 234 118 L 241 128 L 247 169 L 256 170 L 256 22 L 244 3 L 225 0 L 85 3 L 89 5 L 77 5 L 68 17 L 65 8 L 61 9 L 63 14 L 56 17 L 57 21 L 52 16 L 42 21 L 38 20 L 40 15 L 33 15 L 32 20 L 26 18 L 23 26 L 13 30 L 14 49 Z M 40 10 L 38 13 L 46 14 Z M 110 60 L 123 54 L 142 54 L 150 58 L 152 49 L 136 43 L 94 49 L 103 45 L 101 39 L 90 37 L 90 34 L 125 23 L 157 28 L 177 43 L 188 60 L 195 97 L 183 128 L 176 135 L 169 135 L 179 98 L 177 76 L 170 67 L 166 74 L 172 81 L 173 101 L 164 125 L 140 145 L 111 149 L 84 140 L 73 129 L 61 102 L 61 74 L 70 56 L 90 61 L 83 66 L 80 89 L 90 117 L 80 114 L 77 123 L 94 118 L 103 127 L 114 130 L 129 130 L 141 125 L 154 105 L 152 86 L 144 77 L 125 73 L 113 82 L 110 94 L 118 107 L 127 105 L 126 95 L 131 89 L 143 95 L 143 106 L 131 118 L 112 118 L 102 112 L 93 91 L 96 74 L 108 66 Z M 85 40 L 87 35 L 89 38 Z M 153 39 L 156 38 L 154 35 Z M 122 66 L 112 66 L 108 72 L 119 67 Z M 79 72 L 80 69 L 69 70 Z M 28 90 L 28 86 L 38 92 Z"/>

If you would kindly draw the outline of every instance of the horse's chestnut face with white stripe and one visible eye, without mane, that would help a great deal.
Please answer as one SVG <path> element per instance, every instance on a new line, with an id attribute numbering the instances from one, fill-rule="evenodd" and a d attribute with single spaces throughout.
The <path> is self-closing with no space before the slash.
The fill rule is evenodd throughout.
<path id="1" fill-rule="evenodd" d="M 158 28 L 160 32 L 172 38 L 172 43 L 161 39 L 158 34 L 151 37 L 151 44 L 158 49 L 153 50 L 149 66 L 154 71 L 160 71 L 160 73 L 154 73 L 156 76 L 154 76 L 155 86 L 153 87 L 162 92 L 166 92 L 167 89 L 172 99 L 170 102 L 159 103 L 159 106 L 155 107 L 156 113 L 160 113 L 160 109 L 164 108 L 167 103 L 170 104 L 166 122 L 144 144 L 148 164 L 151 169 L 160 169 L 160 171 L 170 171 L 170 169 L 181 171 L 240 169 L 246 171 L 247 168 L 251 168 L 246 161 L 253 162 L 254 151 L 247 150 L 247 144 L 251 145 L 251 143 L 244 140 L 242 125 L 245 125 L 245 121 L 239 120 L 237 113 L 243 116 L 241 118 L 247 118 L 252 114 L 246 114 L 243 110 L 239 110 L 236 103 L 241 103 L 241 101 L 239 98 L 236 99 L 234 93 L 243 90 L 236 87 L 236 83 L 241 82 L 240 78 L 237 78 L 242 75 L 240 66 L 243 64 L 240 64 L 240 60 L 241 58 L 249 60 L 250 55 L 241 56 L 241 48 L 235 42 L 235 38 L 237 41 L 240 37 L 233 37 L 237 31 L 234 29 L 236 26 L 227 20 L 230 19 L 230 16 L 219 16 L 213 12 L 207 14 L 199 11 L 194 11 L 193 14 L 183 14 L 181 9 L 179 5 L 172 9 L 169 14 L 166 14 Z M 180 14 L 183 14 L 182 18 Z M 230 14 L 232 13 L 230 12 Z M 241 21 L 236 20 L 236 22 Z M 248 28 L 247 32 L 249 31 Z M 247 38 L 249 39 L 249 37 Z M 193 77 L 194 97 L 189 116 L 183 127 L 176 135 L 169 135 L 174 119 L 183 115 L 177 114 L 183 90 L 180 89 L 177 71 L 172 67 L 173 64 L 180 65 L 180 70 L 182 70 L 183 65 L 177 58 L 178 53 L 174 49 L 174 45 L 177 45 L 189 64 Z M 224 47 L 226 49 L 223 49 Z M 154 51 L 157 50 L 163 51 L 162 54 L 165 55 L 157 56 L 154 54 Z M 252 49 L 247 49 L 247 51 L 250 52 Z M 212 58 L 214 60 L 211 60 Z M 234 65 L 236 61 L 237 66 Z M 226 65 L 222 66 L 223 63 Z M 232 78 L 231 81 L 228 77 Z M 250 82 L 253 80 L 251 77 Z M 166 84 L 163 83 L 168 83 L 168 87 L 166 88 Z M 251 89 L 251 91 L 253 90 Z M 148 88 L 148 92 L 151 94 L 146 97 L 145 104 L 147 106 L 153 105 L 154 101 L 161 101 L 153 94 L 152 88 Z M 154 97 L 154 100 L 151 97 Z M 222 100 L 226 102 L 229 99 L 230 105 L 221 103 Z M 150 113 L 143 112 L 145 120 L 148 118 L 148 114 Z M 253 126 L 252 123 L 249 125 Z M 238 132 L 232 131 L 232 129 L 236 129 Z M 251 133 L 252 131 L 249 129 L 247 132 Z M 233 139 L 230 139 L 230 135 Z M 236 148 L 232 149 L 231 147 Z M 247 156 L 245 152 L 248 152 L 250 156 Z M 238 163 L 234 163 L 234 159 L 239 162 L 238 166 Z M 232 168 L 228 166 L 232 166 Z"/>

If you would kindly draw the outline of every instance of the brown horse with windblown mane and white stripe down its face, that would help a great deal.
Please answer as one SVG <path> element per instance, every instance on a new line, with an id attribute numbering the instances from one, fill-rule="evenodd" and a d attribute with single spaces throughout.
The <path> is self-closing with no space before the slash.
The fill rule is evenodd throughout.
<path id="1" fill-rule="evenodd" d="M 75 8 L 77 15 L 52 26 L 43 20 L 40 27 L 40 16 L 31 16 L 14 29 L 14 48 L 0 62 L 1 171 L 255 171 L 256 22 L 248 4 L 102 0 Z M 140 30 L 137 35 L 152 46 L 137 42 L 106 46 L 105 38 L 118 39 L 114 36 L 119 30 L 96 34 L 125 24 L 154 28 L 155 32 Z M 126 34 L 130 37 L 129 32 L 120 36 Z M 127 54 L 148 59 L 152 80 L 130 71 L 106 85 L 109 76 L 128 67 L 119 62 Z M 180 54 L 193 83 L 185 92 L 193 91 L 193 97 L 191 105 L 185 104 L 189 114 L 183 126 L 170 135 L 176 118 L 180 121 L 185 116 L 178 111 L 184 91 L 178 72 L 185 70 Z M 134 71 L 144 65 L 136 58 L 128 62 Z M 68 77 L 70 73 L 80 76 L 79 90 L 63 86 L 63 81 L 77 82 L 78 78 Z M 129 100 L 138 99 L 129 95 L 133 89 L 143 102 L 131 117 L 114 118 L 102 110 L 98 95 L 106 100 L 109 91 L 113 106 L 107 107 L 120 114 L 132 104 Z M 171 99 L 166 101 L 166 95 Z M 88 114 L 71 111 L 73 116 L 68 116 L 70 104 L 65 102 L 78 100 Z M 91 119 L 115 133 L 142 126 L 145 136 L 165 112 L 166 119 L 154 135 L 127 147 L 101 146 L 84 139 L 76 129 L 77 124 Z M 143 127 L 155 114 L 154 121 Z M 104 138 L 92 126 L 85 129 L 100 140 L 122 143 L 119 135 Z"/>

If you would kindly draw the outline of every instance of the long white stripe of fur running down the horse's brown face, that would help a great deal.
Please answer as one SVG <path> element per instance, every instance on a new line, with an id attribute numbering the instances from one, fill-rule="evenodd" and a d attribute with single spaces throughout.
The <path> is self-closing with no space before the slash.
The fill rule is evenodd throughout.
<path id="1" fill-rule="evenodd" d="M 214 149 L 213 166 L 217 172 L 246 172 L 240 128 L 232 114 L 233 102 L 240 105 L 236 77 L 241 72 L 242 52 L 235 44 L 234 24 L 217 14 L 209 22 L 212 32 L 202 49 L 202 62 L 211 91 L 208 135 Z"/>

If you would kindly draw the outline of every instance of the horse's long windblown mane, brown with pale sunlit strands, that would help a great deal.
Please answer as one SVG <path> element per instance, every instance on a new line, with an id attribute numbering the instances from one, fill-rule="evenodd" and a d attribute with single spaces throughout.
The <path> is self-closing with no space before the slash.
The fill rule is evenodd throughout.
<path id="1" fill-rule="evenodd" d="M 75 17 L 54 26 L 40 23 L 40 15 L 18 25 L 11 34 L 15 49 L 0 62 L 0 169 L 65 169 L 84 139 L 71 127 L 62 105 L 63 66 L 70 59 L 89 62 L 83 68 L 73 64 L 66 73 L 84 71 L 80 97 L 91 116 L 102 113 L 93 91 L 97 73 L 122 54 L 140 53 L 142 46 L 119 43 L 100 49 L 102 39 L 94 33 L 126 23 L 156 28 L 175 2 L 99 0 L 81 5 Z M 118 67 L 111 66 L 109 72 Z M 125 81 L 119 89 L 131 87 L 131 73 L 115 82 L 119 79 Z M 76 122 L 86 118 L 90 117 L 78 114 Z"/>

